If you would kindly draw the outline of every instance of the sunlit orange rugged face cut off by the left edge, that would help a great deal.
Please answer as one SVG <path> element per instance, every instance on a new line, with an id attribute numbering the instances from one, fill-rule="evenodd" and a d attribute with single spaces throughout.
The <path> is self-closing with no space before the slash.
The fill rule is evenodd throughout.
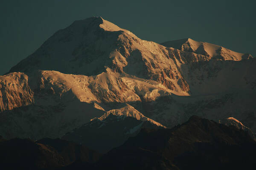
<path id="1" fill-rule="evenodd" d="M 26 74 L 15 72 L 0 76 L 0 111 L 29 105 L 33 95 Z"/>

